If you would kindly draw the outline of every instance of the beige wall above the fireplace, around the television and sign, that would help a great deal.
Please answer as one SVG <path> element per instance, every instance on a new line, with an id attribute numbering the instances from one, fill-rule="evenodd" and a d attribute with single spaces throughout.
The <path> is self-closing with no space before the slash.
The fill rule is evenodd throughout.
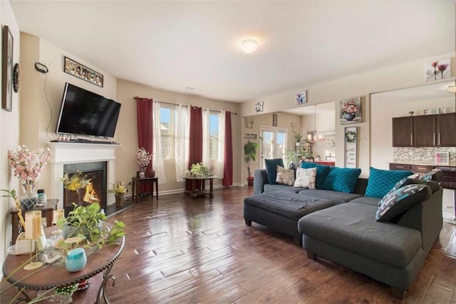
<path id="1" fill-rule="evenodd" d="M 21 33 L 21 45 L 21 144 L 31 149 L 46 148 L 48 142 L 56 139 L 56 126 L 66 82 L 115 99 L 117 79 L 97 66 L 30 34 Z M 65 73 L 64 56 L 103 74 L 103 88 Z M 48 73 L 36 71 L 35 62 L 46 65 Z M 38 188 L 46 191 L 50 184 L 48 165 L 38 182 Z"/>

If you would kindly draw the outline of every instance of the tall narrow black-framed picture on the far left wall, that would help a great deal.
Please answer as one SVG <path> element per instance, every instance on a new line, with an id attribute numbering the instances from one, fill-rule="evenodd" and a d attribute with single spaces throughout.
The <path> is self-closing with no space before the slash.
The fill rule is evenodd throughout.
<path id="1" fill-rule="evenodd" d="M 13 103 L 13 34 L 8 26 L 1 33 L 1 108 L 12 111 Z"/>

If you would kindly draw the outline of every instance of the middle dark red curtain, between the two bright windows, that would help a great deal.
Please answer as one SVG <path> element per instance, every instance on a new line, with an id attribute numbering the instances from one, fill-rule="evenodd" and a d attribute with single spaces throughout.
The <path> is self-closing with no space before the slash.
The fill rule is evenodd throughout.
<path id="1" fill-rule="evenodd" d="M 190 108 L 190 145 L 188 153 L 188 169 L 192 163 L 202 162 L 202 108 L 192 106 Z M 197 183 L 197 188 L 200 188 Z M 190 181 L 185 183 L 185 189 L 191 189 Z"/>

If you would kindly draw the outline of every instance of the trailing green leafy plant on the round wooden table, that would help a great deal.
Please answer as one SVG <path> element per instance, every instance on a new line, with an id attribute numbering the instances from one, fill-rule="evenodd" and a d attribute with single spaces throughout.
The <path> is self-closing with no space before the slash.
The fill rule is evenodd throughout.
<path id="1" fill-rule="evenodd" d="M 106 225 L 107 217 L 100 211 L 99 203 L 88 206 L 78 206 L 73 203 L 74 209 L 66 218 L 59 218 L 57 226 L 63 231 L 63 238 L 80 238 L 86 240 L 89 247 L 101 248 L 105 244 L 115 241 L 125 235 L 125 224 L 115 221 L 112 227 Z M 65 242 L 62 243 L 65 249 Z"/>

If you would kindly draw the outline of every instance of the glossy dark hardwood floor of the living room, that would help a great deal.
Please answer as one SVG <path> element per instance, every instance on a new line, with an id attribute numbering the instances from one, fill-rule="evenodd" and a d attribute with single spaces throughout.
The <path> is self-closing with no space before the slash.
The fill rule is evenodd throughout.
<path id="1" fill-rule="evenodd" d="M 246 226 L 243 198 L 250 194 L 233 187 L 215 189 L 212 199 L 147 197 L 112 216 L 128 226 L 111 272 L 117 283 L 107 288 L 112 303 L 456 304 L 455 225 L 444 224 L 400 301 L 365 275 L 309 260 L 286 235 Z"/>

